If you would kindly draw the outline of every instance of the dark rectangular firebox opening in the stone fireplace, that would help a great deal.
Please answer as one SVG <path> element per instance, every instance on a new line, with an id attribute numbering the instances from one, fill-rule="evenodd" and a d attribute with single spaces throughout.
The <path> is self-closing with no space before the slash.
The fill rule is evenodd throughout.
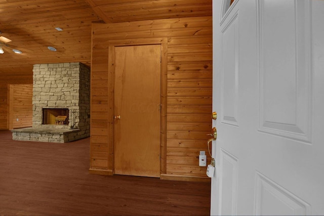
<path id="1" fill-rule="evenodd" d="M 43 108 L 43 124 L 69 124 L 69 109 Z"/>

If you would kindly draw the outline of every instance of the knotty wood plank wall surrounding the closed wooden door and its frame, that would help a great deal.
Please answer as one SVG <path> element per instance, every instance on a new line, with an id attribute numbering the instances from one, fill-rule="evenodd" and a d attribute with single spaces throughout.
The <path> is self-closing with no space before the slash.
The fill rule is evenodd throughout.
<path id="1" fill-rule="evenodd" d="M 111 174 L 113 167 L 108 145 L 109 40 L 150 44 L 153 38 L 167 37 L 167 147 L 161 152 L 166 155 L 161 158 L 166 161 L 161 179 L 207 180 L 207 167 L 198 166 L 198 155 L 202 150 L 208 155 L 212 128 L 212 17 L 94 23 L 92 32 L 90 172 Z"/>

